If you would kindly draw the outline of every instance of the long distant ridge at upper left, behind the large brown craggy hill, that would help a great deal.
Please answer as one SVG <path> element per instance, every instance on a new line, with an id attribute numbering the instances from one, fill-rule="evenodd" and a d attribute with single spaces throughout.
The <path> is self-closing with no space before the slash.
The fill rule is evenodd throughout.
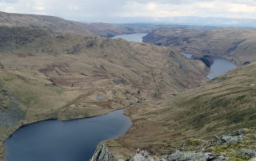
<path id="1" fill-rule="evenodd" d="M 102 37 L 113 37 L 126 33 L 144 33 L 150 30 L 139 27 L 114 26 L 105 23 L 85 24 L 53 16 L 9 14 L 4 12 L 0 12 L 0 26 L 26 26 L 34 29 L 46 29 L 50 32 L 96 34 Z"/>

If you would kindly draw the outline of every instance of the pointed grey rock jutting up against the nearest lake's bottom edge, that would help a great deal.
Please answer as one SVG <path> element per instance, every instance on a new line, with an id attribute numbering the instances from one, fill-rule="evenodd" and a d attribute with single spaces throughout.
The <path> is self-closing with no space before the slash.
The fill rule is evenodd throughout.
<path id="1" fill-rule="evenodd" d="M 96 151 L 94 151 L 93 157 L 90 159 L 90 161 L 114 161 L 114 155 L 110 153 L 108 147 L 106 147 L 105 144 L 101 143 L 96 148 Z"/>

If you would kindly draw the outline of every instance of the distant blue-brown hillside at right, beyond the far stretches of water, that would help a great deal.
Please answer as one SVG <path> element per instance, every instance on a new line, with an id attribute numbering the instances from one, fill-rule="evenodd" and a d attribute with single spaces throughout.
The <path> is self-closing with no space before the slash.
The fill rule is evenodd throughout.
<path id="1" fill-rule="evenodd" d="M 149 33 L 143 41 L 184 53 L 223 57 L 237 65 L 256 61 L 255 29 L 162 28 Z"/>

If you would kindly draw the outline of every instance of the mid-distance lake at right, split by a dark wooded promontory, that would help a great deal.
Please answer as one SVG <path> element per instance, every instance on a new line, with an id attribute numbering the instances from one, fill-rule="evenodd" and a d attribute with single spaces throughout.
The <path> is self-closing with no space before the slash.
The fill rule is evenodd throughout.
<path id="1" fill-rule="evenodd" d="M 194 54 L 191 53 L 182 53 L 187 58 L 191 58 Z M 212 57 L 214 59 L 214 64 L 210 66 L 210 73 L 207 75 L 209 79 L 213 79 L 214 77 L 218 77 L 224 73 L 227 73 L 231 69 L 236 68 L 231 61 L 226 59 L 222 59 L 220 57 Z"/>

